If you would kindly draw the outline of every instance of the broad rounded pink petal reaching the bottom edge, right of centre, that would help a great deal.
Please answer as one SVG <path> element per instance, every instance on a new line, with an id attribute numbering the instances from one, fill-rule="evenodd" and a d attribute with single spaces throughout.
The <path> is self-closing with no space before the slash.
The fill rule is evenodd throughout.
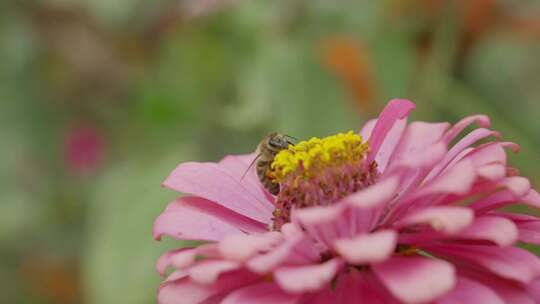
<path id="1" fill-rule="evenodd" d="M 442 260 L 393 257 L 372 267 L 388 290 L 405 303 L 433 301 L 456 284 L 454 267 Z"/>

